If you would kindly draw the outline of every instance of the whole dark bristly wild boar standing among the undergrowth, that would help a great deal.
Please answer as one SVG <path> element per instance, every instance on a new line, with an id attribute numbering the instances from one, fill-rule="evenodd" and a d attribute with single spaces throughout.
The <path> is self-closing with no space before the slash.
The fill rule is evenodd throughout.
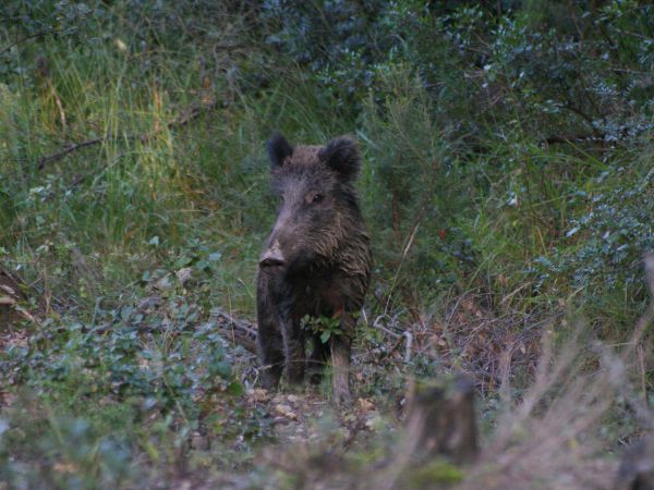
<path id="1" fill-rule="evenodd" d="M 274 389 L 304 378 L 305 332 L 301 319 L 337 318 L 343 334 L 323 344 L 314 334 L 308 364 L 331 354 L 334 394 L 350 397 L 350 346 L 354 315 L 370 283 L 368 235 L 353 181 L 361 159 L 356 143 L 339 136 L 327 146 L 298 146 L 276 133 L 267 143 L 274 191 L 282 199 L 262 254 L 257 279 L 257 347 L 263 382 Z"/>

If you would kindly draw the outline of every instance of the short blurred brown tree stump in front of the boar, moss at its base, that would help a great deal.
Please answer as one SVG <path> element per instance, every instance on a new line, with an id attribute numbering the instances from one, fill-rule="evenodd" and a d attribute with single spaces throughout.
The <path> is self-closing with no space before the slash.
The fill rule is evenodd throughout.
<path id="1" fill-rule="evenodd" d="M 415 463 L 436 456 L 456 464 L 475 458 L 474 383 L 468 376 L 416 381 L 409 406 L 404 450 Z"/>

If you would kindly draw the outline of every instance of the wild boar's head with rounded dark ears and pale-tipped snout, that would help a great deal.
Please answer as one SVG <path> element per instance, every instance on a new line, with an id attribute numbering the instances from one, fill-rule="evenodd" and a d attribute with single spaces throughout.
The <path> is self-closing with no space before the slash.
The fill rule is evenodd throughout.
<path id="1" fill-rule="evenodd" d="M 293 148 L 276 133 L 266 148 L 280 207 L 261 269 L 312 273 L 329 268 L 351 229 L 363 222 L 353 188 L 361 162 L 356 143 L 339 136 L 326 146 Z"/>

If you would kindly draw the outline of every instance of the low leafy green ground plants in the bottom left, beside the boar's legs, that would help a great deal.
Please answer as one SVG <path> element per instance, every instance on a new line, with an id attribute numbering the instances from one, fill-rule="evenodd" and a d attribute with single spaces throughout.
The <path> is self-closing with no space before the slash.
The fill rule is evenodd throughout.
<path id="1" fill-rule="evenodd" d="M 192 461 L 198 431 L 220 461 L 221 448 L 239 441 L 246 452 L 267 437 L 215 322 L 197 324 L 197 307 L 179 296 L 161 313 L 125 305 L 98 309 L 89 324 L 48 321 L 28 347 L 2 354 L 2 383 L 24 399 L 0 418 L 5 481 L 124 486 L 147 477 L 135 454 L 154 467 Z"/>

